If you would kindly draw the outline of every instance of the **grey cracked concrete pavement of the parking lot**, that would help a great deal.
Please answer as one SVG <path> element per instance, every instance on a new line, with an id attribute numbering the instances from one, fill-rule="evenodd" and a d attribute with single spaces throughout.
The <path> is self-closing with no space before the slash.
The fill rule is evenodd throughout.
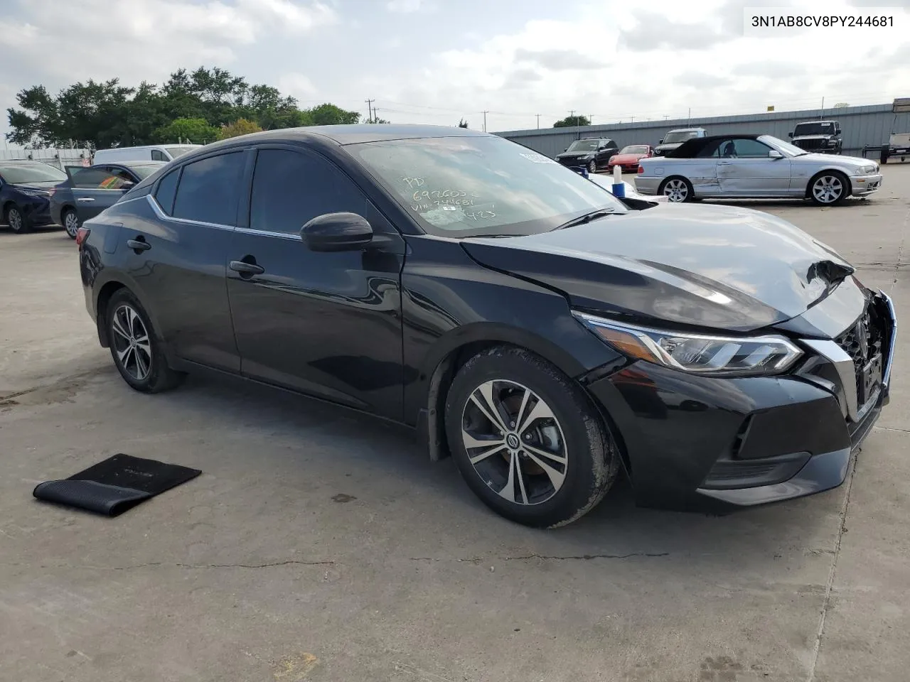
<path id="1" fill-rule="evenodd" d="M 910 165 L 784 216 L 910 320 Z M 495 516 L 409 432 L 190 377 L 140 395 L 62 230 L 0 228 L 0 680 L 907 679 L 910 332 L 843 486 L 715 517 L 622 481 L 569 527 Z M 187 292 L 189 294 L 189 292 Z M 36 502 L 116 453 L 203 475 L 122 517 Z"/>

